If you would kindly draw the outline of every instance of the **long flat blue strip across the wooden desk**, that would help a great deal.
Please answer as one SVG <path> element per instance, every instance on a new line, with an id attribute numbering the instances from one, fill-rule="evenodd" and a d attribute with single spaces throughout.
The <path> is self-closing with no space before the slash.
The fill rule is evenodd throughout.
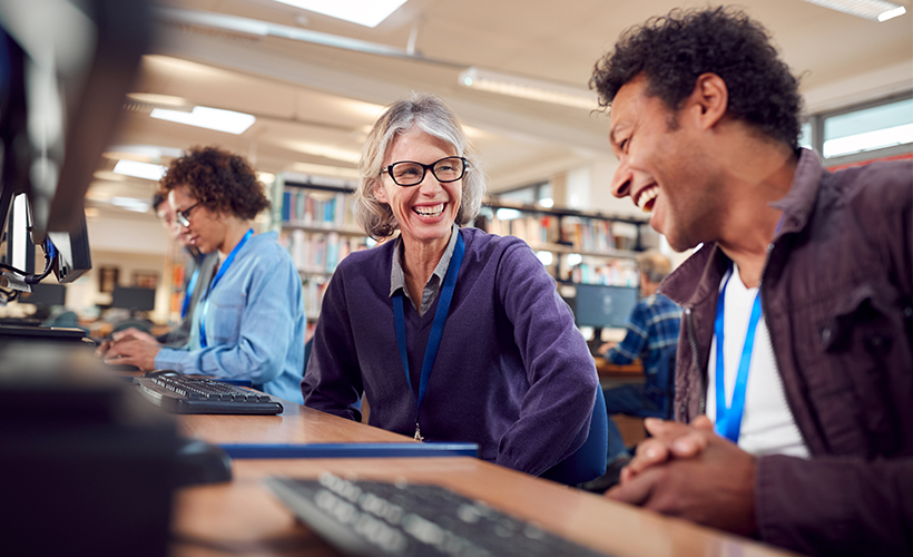
<path id="1" fill-rule="evenodd" d="M 478 457 L 477 443 L 220 444 L 232 458 Z"/>

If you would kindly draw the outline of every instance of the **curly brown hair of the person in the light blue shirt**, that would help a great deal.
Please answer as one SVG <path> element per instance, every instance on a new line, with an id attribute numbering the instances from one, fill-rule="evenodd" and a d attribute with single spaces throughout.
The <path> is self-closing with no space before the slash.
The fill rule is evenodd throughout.
<path id="1" fill-rule="evenodd" d="M 244 157 L 218 147 L 192 147 L 171 162 L 159 185 L 164 192 L 187 186 L 190 196 L 209 211 L 245 221 L 269 207 L 254 168 Z"/>

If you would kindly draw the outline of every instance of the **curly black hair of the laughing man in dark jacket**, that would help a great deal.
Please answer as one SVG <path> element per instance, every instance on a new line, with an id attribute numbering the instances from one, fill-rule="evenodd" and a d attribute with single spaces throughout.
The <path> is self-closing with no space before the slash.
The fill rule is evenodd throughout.
<path id="1" fill-rule="evenodd" d="M 767 30 L 738 10 L 677 9 L 628 29 L 596 62 L 590 88 L 609 107 L 621 86 L 644 74 L 647 95 L 678 110 L 708 72 L 726 82 L 728 114 L 798 147 L 798 79 L 777 57 Z"/>

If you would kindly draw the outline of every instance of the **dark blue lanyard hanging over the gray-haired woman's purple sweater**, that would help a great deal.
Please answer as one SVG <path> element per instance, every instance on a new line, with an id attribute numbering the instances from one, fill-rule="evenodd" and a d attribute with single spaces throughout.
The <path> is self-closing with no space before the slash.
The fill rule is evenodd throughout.
<path id="1" fill-rule="evenodd" d="M 403 291 L 400 290 L 393 294 L 393 324 L 396 329 L 396 344 L 400 348 L 400 359 L 403 361 L 405 381 L 409 383 L 409 393 L 412 394 L 412 400 L 415 402 L 415 439 L 419 441 L 423 440 L 422 432 L 419 429 L 419 409 L 422 405 L 422 400 L 425 398 L 425 391 L 428 391 L 428 379 L 431 377 L 431 368 L 434 365 L 434 359 L 438 358 L 438 348 L 441 345 L 441 336 L 444 334 L 444 322 L 446 322 L 448 313 L 450 313 L 450 302 L 453 299 L 453 289 L 457 286 L 457 273 L 460 272 L 464 251 L 465 242 L 463 242 L 463 235 L 458 231 L 453 257 L 450 260 L 450 266 L 444 275 L 441 299 L 438 301 L 438 309 L 434 311 L 434 323 L 431 325 L 431 336 L 428 339 L 424 360 L 422 360 L 422 375 L 419 380 L 419 400 L 415 400 L 415 394 L 412 392 L 412 380 L 409 377 L 409 356 L 405 351 Z"/>

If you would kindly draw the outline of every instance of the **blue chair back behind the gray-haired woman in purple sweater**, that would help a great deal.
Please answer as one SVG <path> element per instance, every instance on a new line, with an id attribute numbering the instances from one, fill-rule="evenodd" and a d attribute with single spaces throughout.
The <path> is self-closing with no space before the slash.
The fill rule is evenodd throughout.
<path id="1" fill-rule="evenodd" d="M 609 417 L 602 389 L 596 389 L 590 432 L 583 444 L 568 458 L 546 470 L 541 477 L 577 486 L 606 473 L 606 452 L 609 447 Z"/>

